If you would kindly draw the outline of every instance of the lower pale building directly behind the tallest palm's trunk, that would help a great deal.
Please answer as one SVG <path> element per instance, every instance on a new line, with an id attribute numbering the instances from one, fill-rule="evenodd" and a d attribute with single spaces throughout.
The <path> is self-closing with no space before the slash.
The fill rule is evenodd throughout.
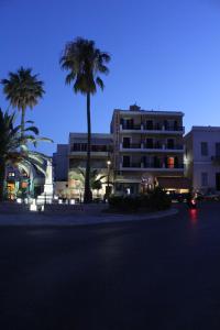
<path id="1" fill-rule="evenodd" d="M 108 180 L 109 187 L 112 187 L 111 168 L 108 165 L 111 152 L 111 134 L 91 134 L 91 176 L 95 170 L 97 178 L 105 176 L 102 189 L 98 191 L 99 196 L 106 194 Z M 70 133 L 68 144 L 57 147 L 57 152 L 53 157 L 55 163 L 56 195 L 67 198 L 79 198 L 84 195 L 84 177 L 80 170 L 84 172 L 86 168 L 86 157 L 87 133 Z"/>

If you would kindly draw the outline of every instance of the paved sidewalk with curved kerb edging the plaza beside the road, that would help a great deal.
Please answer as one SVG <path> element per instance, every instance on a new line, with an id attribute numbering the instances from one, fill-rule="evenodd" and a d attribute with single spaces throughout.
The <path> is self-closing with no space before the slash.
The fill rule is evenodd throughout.
<path id="1" fill-rule="evenodd" d="M 0 213 L 0 227 L 6 226 L 85 226 L 85 224 L 101 224 L 111 222 L 125 222 L 125 221 L 141 221 L 150 219 L 165 218 L 174 216 L 178 212 L 177 209 L 169 209 L 166 211 L 152 212 L 146 215 L 111 215 L 105 213 L 103 209 L 107 206 L 84 206 L 82 209 L 73 209 L 69 211 L 57 210 L 45 212 L 30 212 L 24 211 L 21 213 Z"/>

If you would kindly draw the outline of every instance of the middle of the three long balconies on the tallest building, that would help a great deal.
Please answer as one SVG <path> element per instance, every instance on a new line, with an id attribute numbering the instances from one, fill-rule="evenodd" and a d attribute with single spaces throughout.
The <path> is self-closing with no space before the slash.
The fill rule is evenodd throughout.
<path id="1" fill-rule="evenodd" d="M 148 153 L 183 153 L 184 145 L 175 144 L 167 145 L 162 143 L 130 143 L 130 144 L 120 144 L 121 152 L 148 152 Z"/>

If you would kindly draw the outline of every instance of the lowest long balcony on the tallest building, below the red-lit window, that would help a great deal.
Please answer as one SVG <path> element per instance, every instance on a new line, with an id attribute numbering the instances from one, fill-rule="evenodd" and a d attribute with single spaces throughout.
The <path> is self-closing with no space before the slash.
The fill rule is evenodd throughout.
<path id="1" fill-rule="evenodd" d="M 165 164 L 156 164 L 156 163 L 130 163 L 130 164 L 120 164 L 120 170 L 147 170 L 147 172 L 184 172 L 184 164 L 178 164 L 172 167 L 167 167 Z"/>

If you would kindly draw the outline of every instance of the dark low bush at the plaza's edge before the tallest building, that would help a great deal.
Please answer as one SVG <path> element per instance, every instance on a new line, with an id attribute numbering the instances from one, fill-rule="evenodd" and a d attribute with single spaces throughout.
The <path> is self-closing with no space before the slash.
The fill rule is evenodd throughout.
<path id="1" fill-rule="evenodd" d="M 165 210 L 172 205 L 170 198 L 161 188 L 156 188 L 153 193 L 144 195 L 125 195 L 109 198 L 111 209 L 131 212 L 136 210 Z"/>

